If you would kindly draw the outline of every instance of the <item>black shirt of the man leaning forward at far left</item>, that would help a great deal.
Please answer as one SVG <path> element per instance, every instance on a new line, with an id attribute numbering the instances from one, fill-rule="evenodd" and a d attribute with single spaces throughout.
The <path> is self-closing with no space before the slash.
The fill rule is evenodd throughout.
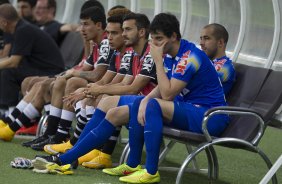
<path id="1" fill-rule="evenodd" d="M 19 20 L 16 25 L 11 55 L 23 56 L 19 67 L 31 67 L 50 74 L 64 70 L 63 57 L 54 40 L 24 20 Z"/>

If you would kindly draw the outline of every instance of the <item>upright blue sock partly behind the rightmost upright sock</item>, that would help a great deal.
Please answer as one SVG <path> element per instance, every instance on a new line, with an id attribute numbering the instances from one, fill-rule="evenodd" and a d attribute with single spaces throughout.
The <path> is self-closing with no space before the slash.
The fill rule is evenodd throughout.
<path id="1" fill-rule="evenodd" d="M 143 144 L 144 144 L 144 127 L 137 121 L 138 109 L 141 102 L 138 98 L 129 106 L 129 147 L 130 153 L 126 164 L 130 167 L 137 167 L 141 162 Z"/>

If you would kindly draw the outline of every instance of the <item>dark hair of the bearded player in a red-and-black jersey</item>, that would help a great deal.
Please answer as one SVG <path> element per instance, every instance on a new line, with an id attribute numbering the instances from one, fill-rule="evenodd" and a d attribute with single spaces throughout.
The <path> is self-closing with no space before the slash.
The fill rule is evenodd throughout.
<path id="1" fill-rule="evenodd" d="M 137 26 L 137 29 L 140 30 L 142 28 L 145 29 L 146 31 L 146 38 L 149 37 L 149 27 L 150 27 L 150 21 L 148 19 L 148 17 L 145 15 L 145 14 L 142 14 L 142 13 L 129 13 L 127 14 L 123 21 L 126 21 L 126 20 L 135 20 L 136 22 L 136 26 Z"/>

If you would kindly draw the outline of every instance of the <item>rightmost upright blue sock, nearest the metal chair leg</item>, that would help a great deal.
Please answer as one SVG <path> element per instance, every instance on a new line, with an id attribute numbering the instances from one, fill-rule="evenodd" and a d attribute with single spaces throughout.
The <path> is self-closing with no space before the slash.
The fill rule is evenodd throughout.
<path id="1" fill-rule="evenodd" d="M 149 100 L 146 107 L 145 119 L 146 169 L 148 173 L 156 174 L 158 171 L 163 130 L 162 110 L 157 100 Z"/>

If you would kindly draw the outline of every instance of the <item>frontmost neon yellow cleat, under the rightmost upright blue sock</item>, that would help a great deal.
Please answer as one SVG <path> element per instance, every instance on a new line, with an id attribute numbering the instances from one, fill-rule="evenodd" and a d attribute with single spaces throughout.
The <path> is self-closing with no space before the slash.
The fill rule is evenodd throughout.
<path id="1" fill-rule="evenodd" d="M 146 169 L 141 169 L 129 176 L 120 177 L 119 181 L 126 183 L 159 183 L 161 181 L 161 177 L 159 172 L 151 175 Z"/>

